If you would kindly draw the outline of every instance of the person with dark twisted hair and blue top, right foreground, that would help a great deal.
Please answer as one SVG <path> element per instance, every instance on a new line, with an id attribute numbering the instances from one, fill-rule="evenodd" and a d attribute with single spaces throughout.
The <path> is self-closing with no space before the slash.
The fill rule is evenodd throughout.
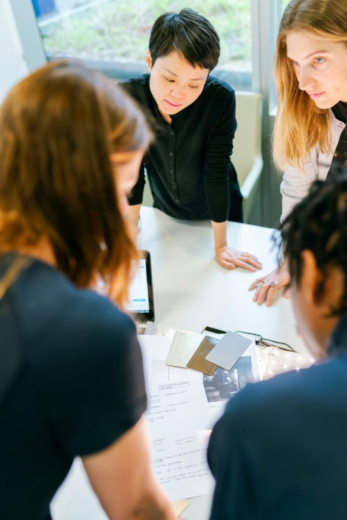
<path id="1" fill-rule="evenodd" d="M 300 334 L 319 361 L 242 389 L 214 426 L 211 520 L 346 517 L 347 173 L 281 226 Z"/>

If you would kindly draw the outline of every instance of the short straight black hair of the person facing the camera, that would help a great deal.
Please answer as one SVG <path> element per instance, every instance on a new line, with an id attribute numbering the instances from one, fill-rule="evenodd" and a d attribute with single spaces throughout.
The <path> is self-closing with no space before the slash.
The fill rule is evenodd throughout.
<path id="1" fill-rule="evenodd" d="M 149 37 L 152 66 L 173 50 L 192 67 L 212 70 L 220 57 L 220 39 L 209 20 L 192 9 L 165 12 L 154 22 Z"/>

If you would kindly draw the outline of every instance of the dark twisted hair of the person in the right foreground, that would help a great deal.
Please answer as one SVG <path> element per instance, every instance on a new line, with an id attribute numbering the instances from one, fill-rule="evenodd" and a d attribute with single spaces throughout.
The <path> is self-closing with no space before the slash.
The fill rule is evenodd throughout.
<path id="1" fill-rule="evenodd" d="M 317 297 L 322 293 L 326 274 L 331 268 L 341 271 L 344 288 L 331 316 L 339 316 L 347 309 L 347 171 L 333 165 L 331 176 L 315 181 L 310 193 L 280 226 L 281 241 L 291 279 L 300 285 L 302 277 L 301 253 L 309 249 L 315 256 L 322 281 Z"/>

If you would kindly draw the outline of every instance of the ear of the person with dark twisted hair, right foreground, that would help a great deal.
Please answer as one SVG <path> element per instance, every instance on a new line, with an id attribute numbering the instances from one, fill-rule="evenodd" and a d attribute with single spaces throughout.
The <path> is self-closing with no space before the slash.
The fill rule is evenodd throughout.
<path id="1" fill-rule="evenodd" d="M 301 290 L 304 300 L 309 305 L 324 305 L 324 298 L 317 298 L 318 286 L 322 281 L 322 273 L 317 267 L 314 254 L 309 249 L 304 249 L 301 253 Z"/>

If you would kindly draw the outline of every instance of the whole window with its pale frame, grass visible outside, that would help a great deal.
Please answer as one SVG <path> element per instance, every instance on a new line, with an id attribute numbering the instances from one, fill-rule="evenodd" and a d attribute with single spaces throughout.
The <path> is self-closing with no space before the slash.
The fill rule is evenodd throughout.
<path id="1" fill-rule="evenodd" d="M 110 77 L 146 72 L 153 21 L 166 10 L 191 7 L 213 23 L 222 55 L 213 74 L 236 90 L 263 95 L 262 225 L 280 213 L 277 177 L 271 175 L 268 136 L 275 113 L 272 81 L 274 43 L 289 0 L 8 0 L 29 70 L 48 59 L 79 57 Z M 36 15 L 36 16 L 35 16 Z M 44 51 L 43 51 L 44 47 Z"/>

